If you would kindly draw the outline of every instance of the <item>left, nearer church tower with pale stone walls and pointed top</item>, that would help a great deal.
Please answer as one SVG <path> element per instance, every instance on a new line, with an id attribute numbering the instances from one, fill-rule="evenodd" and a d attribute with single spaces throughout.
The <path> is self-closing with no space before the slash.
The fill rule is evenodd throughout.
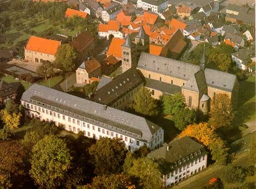
<path id="1" fill-rule="evenodd" d="M 134 52 L 132 49 L 132 42 L 130 39 L 130 35 L 128 34 L 125 43 L 122 44 L 122 72 L 125 72 L 127 69 L 130 69 L 133 65 L 132 53 Z"/>

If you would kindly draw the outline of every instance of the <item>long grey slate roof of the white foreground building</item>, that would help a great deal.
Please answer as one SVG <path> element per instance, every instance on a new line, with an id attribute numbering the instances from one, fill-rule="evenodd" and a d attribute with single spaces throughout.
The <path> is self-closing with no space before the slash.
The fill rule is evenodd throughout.
<path id="1" fill-rule="evenodd" d="M 78 118 L 77 115 L 79 115 L 80 119 L 82 119 L 81 116 L 85 117 L 86 122 L 90 122 L 90 120 L 87 120 L 87 118 L 101 122 L 99 124 L 109 130 L 114 129 L 111 128 L 111 126 L 119 128 L 119 130 L 115 129 L 115 132 L 124 132 L 120 131 L 121 129 L 135 133 L 136 135 L 139 135 L 138 138 L 140 138 L 142 141 L 151 141 L 152 135 L 160 129 L 159 126 L 146 120 L 144 117 L 132 115 L 131 113 L 117 110 L 108 106 L 105 107 L 100 103 L 72 96 L 52 88 L 41 86 L 39 84 L 33 84 L 31 87 L 29 87 L 23 93 L 21 100 L 26 102 L 35 100 L 45 103 L 45 105 L 60 108 L 61 110 L 56 110 L 55 108 L 54 111 L 59 111 L 60 113 L 66 115 L 68 115 L 66 111 L 71 112 L 68 116 Z M 42 103 L 41 105 L 38 104 L 37 106 L 43 106 Z M 73 113 L 76 115 L 73 115 Z M 133 135 L 133 137 L 135 137 L 135 135 Z"/>

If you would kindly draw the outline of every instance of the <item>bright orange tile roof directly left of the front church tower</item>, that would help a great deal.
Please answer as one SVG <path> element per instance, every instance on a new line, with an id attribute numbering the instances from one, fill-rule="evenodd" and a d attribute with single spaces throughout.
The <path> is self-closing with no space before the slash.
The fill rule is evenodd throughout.
<path id="1" fill-rule="evenodd" d="M 109 50 L 107 50 L 107 56 L 113 54 L 114 57 L 121 58 L 122 57 L 122 44 L 125 43 L 125 39 L 112 38 L 112 41 L 109 46 Z"/>

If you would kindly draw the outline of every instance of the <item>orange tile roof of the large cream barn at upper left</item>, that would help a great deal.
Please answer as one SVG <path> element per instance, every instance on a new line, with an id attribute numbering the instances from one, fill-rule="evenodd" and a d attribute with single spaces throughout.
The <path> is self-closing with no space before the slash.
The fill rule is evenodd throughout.
<path id="1" fill-rule="evenodd" d="M 28 39 L 28 43 L 25 49 L 28 51 L 35 51 L 35 52 L 55 55 L 57 52 L 58 46 L 60 45 L 61 45 L 60 41 L 31 36 Z"/>

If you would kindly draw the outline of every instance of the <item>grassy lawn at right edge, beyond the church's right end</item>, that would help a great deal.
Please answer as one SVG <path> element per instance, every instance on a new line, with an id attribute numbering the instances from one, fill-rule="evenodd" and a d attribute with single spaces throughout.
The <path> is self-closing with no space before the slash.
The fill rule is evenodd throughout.
<path id="1" fill-rule="evenodd" d="M 256 121 L 255 100 L 255 76 L 249 76 L 239 84 L 238 109 L 234 118 L 235 125 Z"/>

